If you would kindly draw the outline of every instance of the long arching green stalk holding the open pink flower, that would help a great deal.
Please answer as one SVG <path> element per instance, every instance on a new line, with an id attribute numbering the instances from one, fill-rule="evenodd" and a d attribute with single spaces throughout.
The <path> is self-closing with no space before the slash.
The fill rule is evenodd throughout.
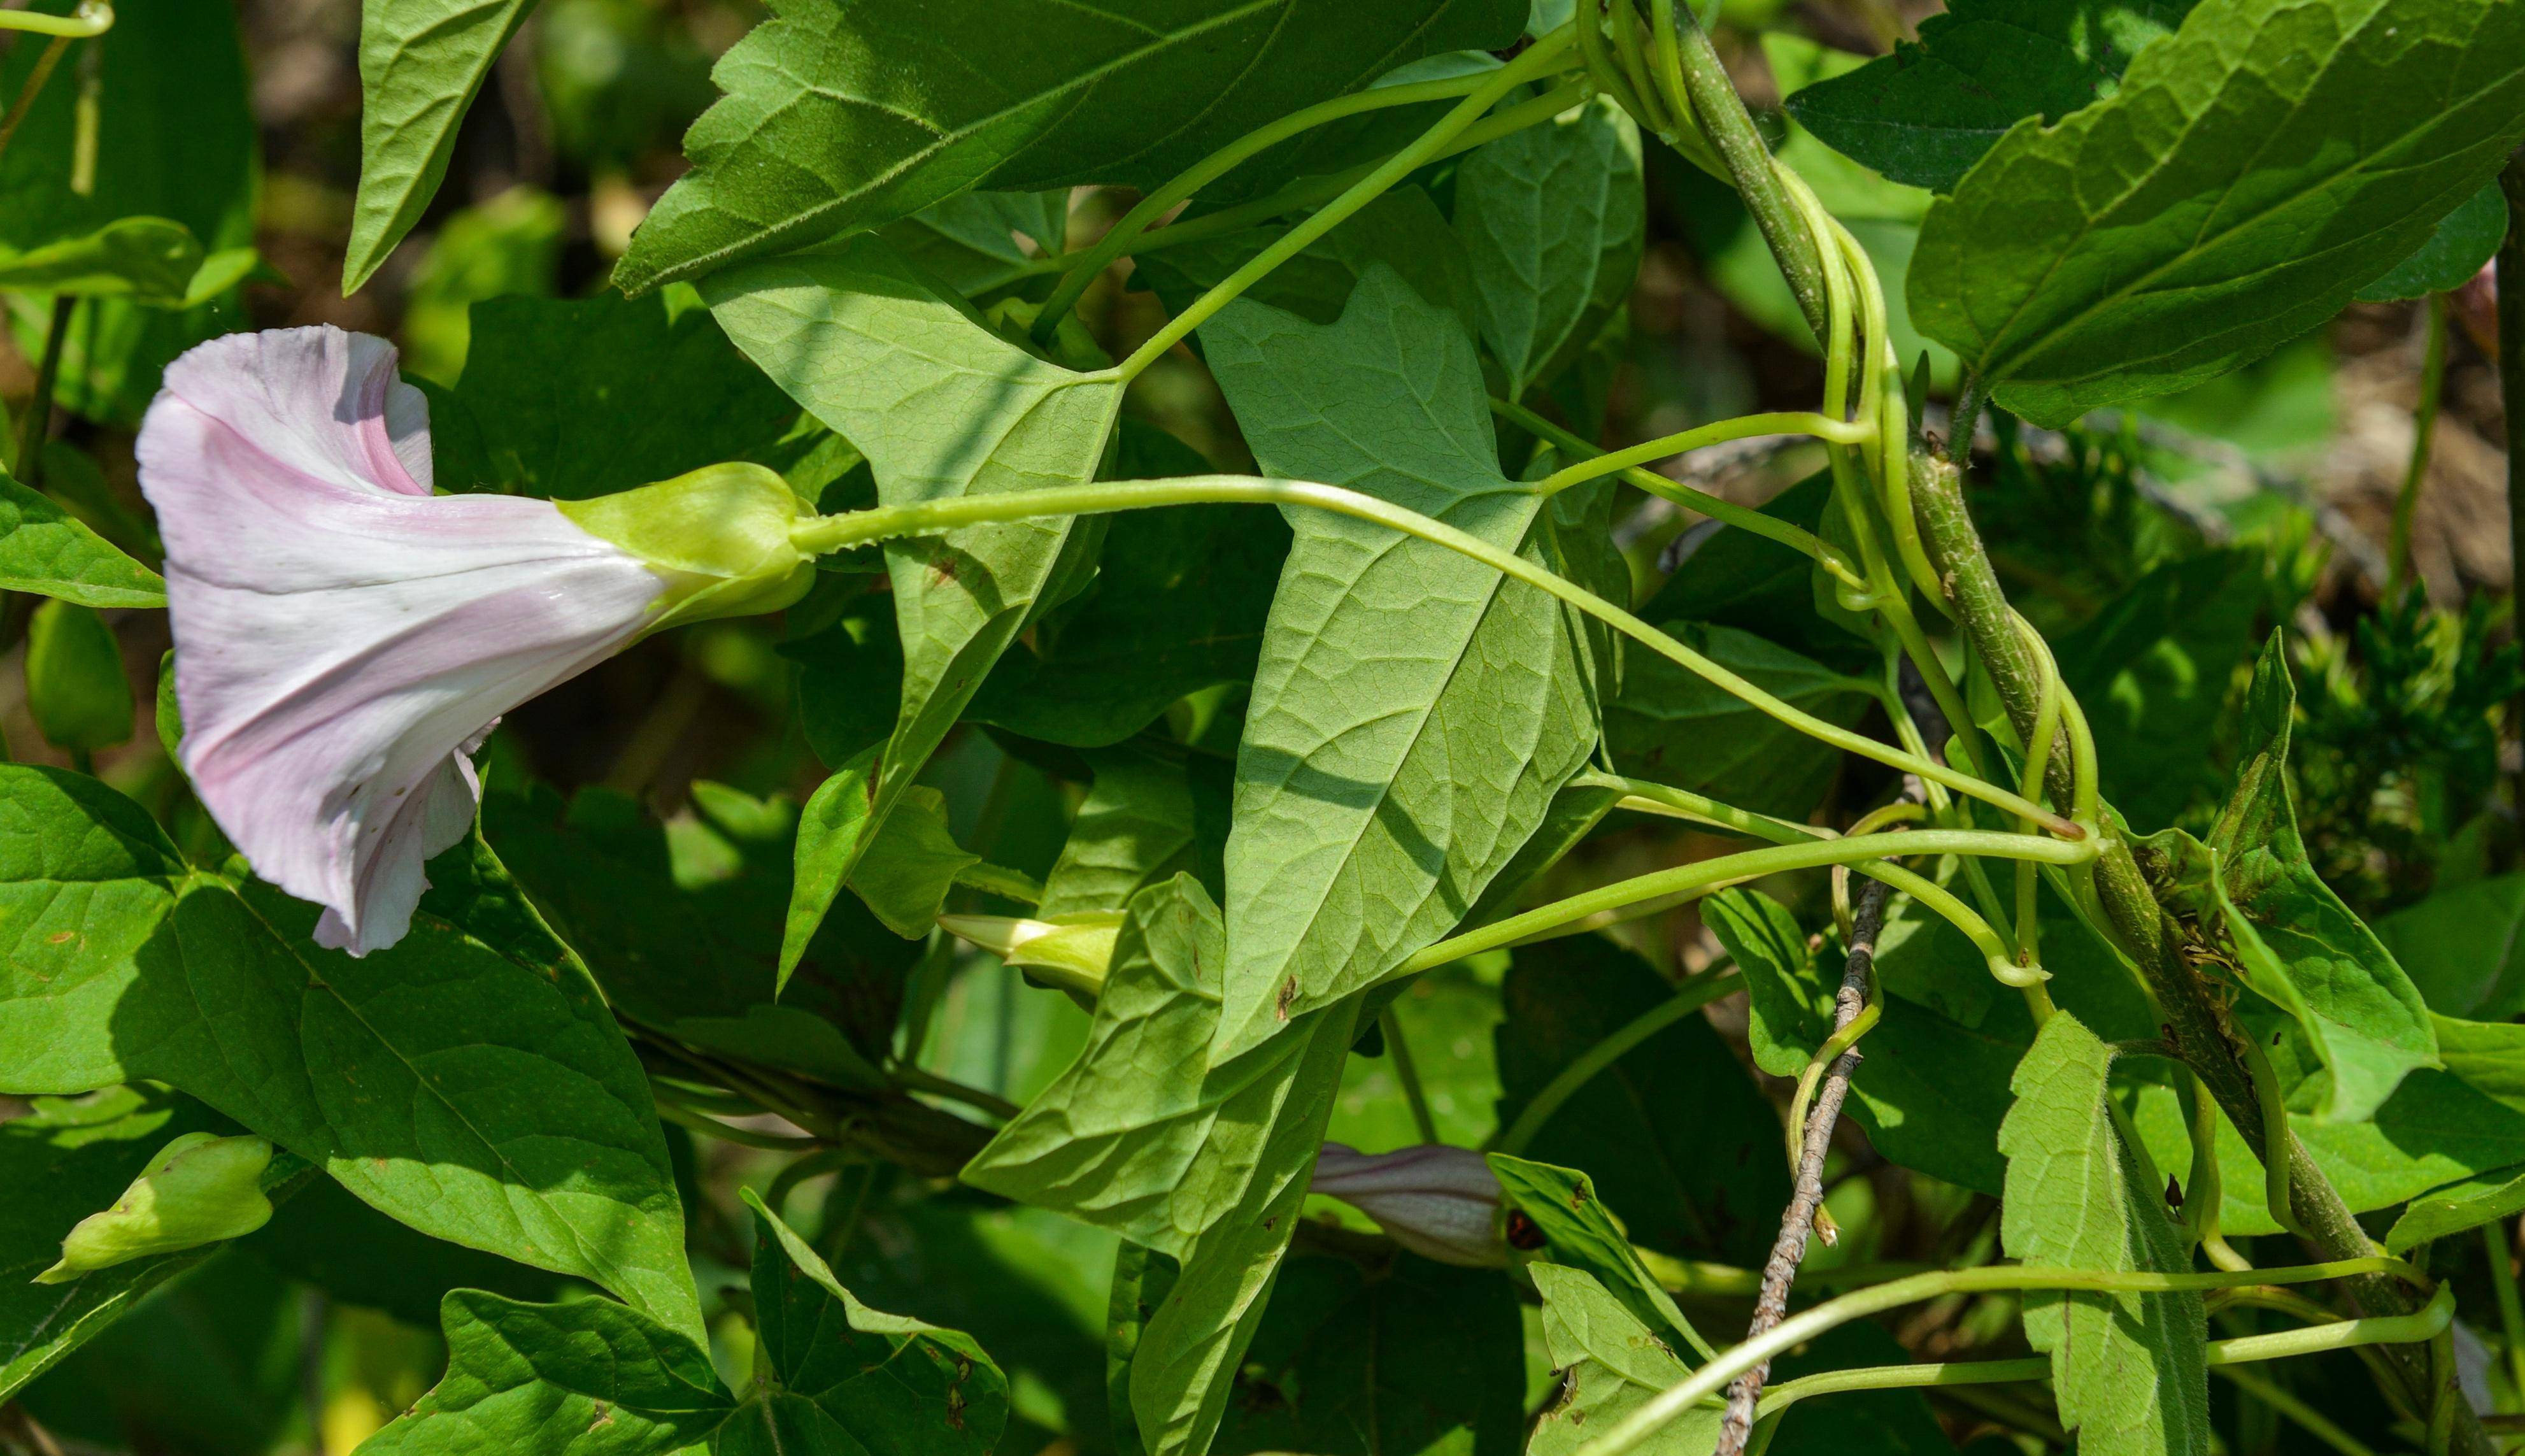
<path id="1" fill-rule="evenodd" d="M 1321 217 L 1321 214 L 1318 214 Z M 1937 780 L 1957 792 L 1972 795 L 1990 802 L 1992 807 L 2010 815 L 2030 815 L 2043 828 L 2065 840 L 2086 838 L 2086 830 L 2063 820 L 2060 815 L 2045 810 L 2043 805 L 2025 802 L 2015 790 L 1997 787 L 1980 777 L 1949 770 L 1947 765 L 1922 760 L 1916 754 L 1886 747 L 1871 737 L 1856 734 L 1838 724 L 1823 722 L 1803 709 L 1795 709 L 1778 696 L 1762 691 L 1760 686 L 1745 681 L 1742 676 L 1727 671 L 1725 666 L 1709 661 L 1707 656 L 1692 651 L 1689 646 L 1674 641 L 1669 633 L 1649 626 L 1639 616 L 1603 601 L 1601 596 L 1563 580 L 1560 575 L 1490 545 L 1477 535 L 1467 535 L 1452 525 L 1429 520 L 1414 510 L 1376 500 L 1356 490 L 1343 490 L 1338 484 L 1316 484 L 1305 479 L 1252 479 L 1235 474 L 1187 474 L 1174 479 L 1116 479 L 1098 484 L 1055 484 L 1043 490 L 1013 490 L 1000 495 L 967 495 L 954 500 L 927 500 L 912 505 L 879 505 L 871 510 L 853 510 L 843 515 L 821 515 L 798 522 L 790 530 L 790 540 L 798 550 L 811 555 L 826 555 L 846 545 L 861 545 L 871 540 L 894 540 L 906 535 L 937 535 L 967 525 L 1007 522 L 1007 520 L 1033 520 L 1048 515 L 1103 515 L 1114 510 L 1144 510 L 1159 505 L 1305 505 L 1313 510 L 1328 510 L 1336 515 L 1348 515 L 1404 535 L 1427 540 L 1480 560 L 1482 565 L 1523 580 L 1588 616 L 1613 626 L 1624 636 L 1649 646 L 1659 656 L 1682 666 L 1684 671 L 1699 676 L 1702 681 L 1717 686 L 1720 691 L 1735 696 L 1737 702 L 1752 707 L 1755 712 L 1783 722 L 1805 737 L 1821 739 L 1843 752 L 1881 762 L 1891 770 L 1914 772 L 1924 780 Z M 1997 835 L 2000 840 L 2015 840 L 2017 835 Z M 2068 850 L 2068 858 L 2058 863 L 2076 863 L 2091 850 Z M 2045 855 L 2048 858 L 2048 855 Z"/>

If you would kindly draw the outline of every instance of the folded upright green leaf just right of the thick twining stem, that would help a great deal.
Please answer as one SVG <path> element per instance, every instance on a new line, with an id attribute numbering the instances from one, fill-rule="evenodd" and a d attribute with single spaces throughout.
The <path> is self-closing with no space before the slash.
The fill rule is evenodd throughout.
<path id="1" fill-rule="evenodd" d="M 2225 931 L 2245 984 L 2305 1030 L 2331 1072 L 2320 1118 L 2356 1123 L 2404 1075 L 2439 1065 L 2437 1035 L 2394 954 L 2305 860 L 2288 792 L 2295 704 L 2275 633 L 2245 699 L 2235 797 L 2209 843 L 2166 830 L 2149 840 L 2149 853 L 2184 911 Z"/>

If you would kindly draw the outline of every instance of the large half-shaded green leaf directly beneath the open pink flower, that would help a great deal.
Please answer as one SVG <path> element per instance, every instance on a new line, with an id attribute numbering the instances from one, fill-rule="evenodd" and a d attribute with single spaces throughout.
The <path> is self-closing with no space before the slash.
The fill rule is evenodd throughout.
<path id="1" fill-rule="evenodd" d="M 596 984 L 480 840 L 432 878 L 399 946 L 323 951 L 313 906 L 184 866 L 101 782 L 0 767 L 5 1085 L 172 1083 L 424 1234 L 697 1327 L 667 1146 Z"/>

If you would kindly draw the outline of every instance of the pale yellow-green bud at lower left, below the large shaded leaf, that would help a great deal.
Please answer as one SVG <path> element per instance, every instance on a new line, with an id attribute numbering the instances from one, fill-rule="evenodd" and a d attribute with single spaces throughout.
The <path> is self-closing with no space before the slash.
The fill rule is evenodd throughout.
<path id="1" fill-rule="evenodd" d="M 184 1133 L 149 1158 L 111 1209 L 81 1219 L 61 1242 L 61 1262 L 35 1282 L 68 1284 L 149 1254 L 252 1234 L 273 1216 L 273 1201 L 263 1196 L 273 1146 L 263 1138 Z"/>

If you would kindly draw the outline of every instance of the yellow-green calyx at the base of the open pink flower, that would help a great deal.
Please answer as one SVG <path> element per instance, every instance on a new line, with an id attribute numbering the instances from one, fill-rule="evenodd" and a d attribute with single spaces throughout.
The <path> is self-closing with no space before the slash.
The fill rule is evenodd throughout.
<path id="1" fill-rule="evenodd" d="M 816 560 L 790 543 L 805 515 L 798 495 L 760 464 L 704 464 L 639 490 L 553 505 L 667 578 L 646 631 L 780 611 L 816 580 Z"/>

